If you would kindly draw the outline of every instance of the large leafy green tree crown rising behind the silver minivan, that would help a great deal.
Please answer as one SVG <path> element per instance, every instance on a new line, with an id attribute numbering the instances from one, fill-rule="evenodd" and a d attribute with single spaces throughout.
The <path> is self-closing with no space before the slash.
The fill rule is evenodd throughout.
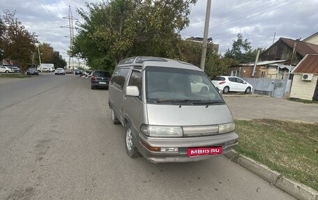
<path id="1" fill-rule="evenodd" d="M 110 0 L 86 4 L 87 11 L 78 10 L 84 23 L 79 24 L 71 54 L 84 57 L 89 64 L 96 60 L 118 63 L 135 55 L 174 58 L 179 55 L 179 31 L 188 26 L 190 4 L 196 2 Z M 90 50 L 98 56 L 91 56 Z"/>

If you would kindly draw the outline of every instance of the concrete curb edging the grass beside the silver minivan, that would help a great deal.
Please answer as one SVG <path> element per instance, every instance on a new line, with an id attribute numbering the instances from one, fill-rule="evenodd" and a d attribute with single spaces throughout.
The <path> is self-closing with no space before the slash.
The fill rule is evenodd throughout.
<path id="1" fill-rule="evenodd" d="M 271 185 L 275 185 L 280 190 L 286 192 L 287 194 L 300 200 L 318 200 L 318 192 L 313 190 L 311 187 L 305 186 L 301 183 L 297 183 L 293 180 L 289 180 L 282 176 L 282 174 L 277 171 L 269 169 L 264 164 L 260 164 L 255 160 L 250 159 L 244 155 L 237 153 L 232 150 L 225 154 L 225 157 L 229 158 L 233 162 L 241 165 L 248 171 L 256 174 L 257 176 L 263 178 Z"/>

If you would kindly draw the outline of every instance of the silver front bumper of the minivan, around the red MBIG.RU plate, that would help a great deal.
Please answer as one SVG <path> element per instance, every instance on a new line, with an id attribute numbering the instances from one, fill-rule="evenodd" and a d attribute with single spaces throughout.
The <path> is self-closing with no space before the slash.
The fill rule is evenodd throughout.
<path id="1" fill-rule="evenodd" d="M 206 137 L 183 137 L 183 138 L 158 138 L 146 137 L 144 134 L 138 134 L 138 150 L 146 160 L 150 162 L 193 162 L 206 160 L 211 157 L 222 155 L 229 152 L 238 144 L 239 136 L 235 132 L 227 134 L 218 134 Z M 146 145 L 144 145 L 146 144 Z M 146 147 L 148 146 L 148 147 Z M 151 147 L 178 148 L 178 152 L 161 152 L 151 151 Z M 188 157 L 188 148 L 222 146 L 222 154 L 218 155 L 202 155 Z"/>

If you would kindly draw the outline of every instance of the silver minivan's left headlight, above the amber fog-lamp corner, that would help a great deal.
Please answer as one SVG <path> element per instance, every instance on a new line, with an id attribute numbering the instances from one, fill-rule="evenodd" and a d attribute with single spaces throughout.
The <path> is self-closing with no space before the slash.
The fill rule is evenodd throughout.
<path id="1" fill-rule="evenodd" d="M 140 130 L 149 137 L 182 137 L 183 131 L 180 126 L 161 126 L 143 124 Z"/>

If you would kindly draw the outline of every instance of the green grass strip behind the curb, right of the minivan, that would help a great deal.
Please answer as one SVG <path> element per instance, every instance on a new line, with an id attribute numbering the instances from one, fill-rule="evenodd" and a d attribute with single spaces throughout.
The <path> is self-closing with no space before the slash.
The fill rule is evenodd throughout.
<path id="1" fill-rule="evenodd" d="M 235 150 L 318 190 L 318 123 L 236 120 Z"/>

